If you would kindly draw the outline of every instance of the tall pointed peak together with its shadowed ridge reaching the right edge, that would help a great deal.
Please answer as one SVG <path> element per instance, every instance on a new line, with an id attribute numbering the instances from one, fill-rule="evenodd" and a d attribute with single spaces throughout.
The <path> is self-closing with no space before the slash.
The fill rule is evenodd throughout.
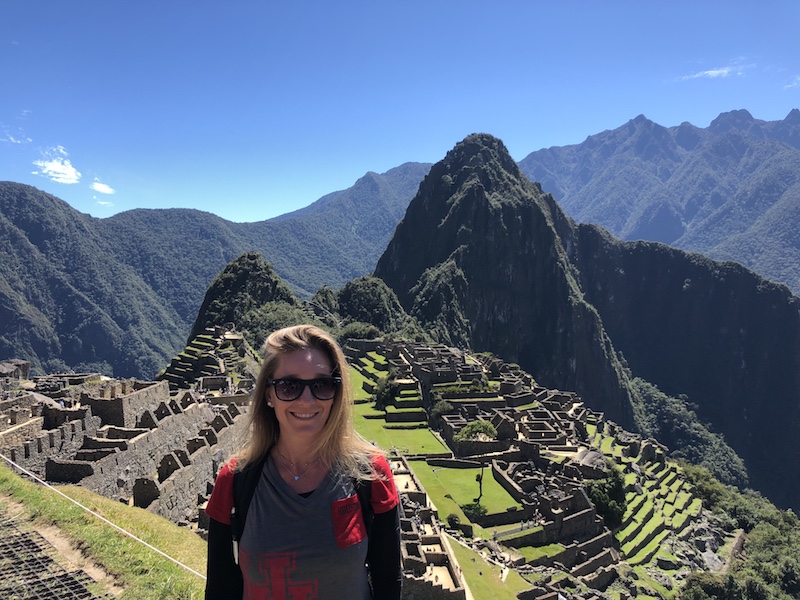
<path id="1" fill-rule="evenodd" d="M 431 168 L 375 276 L 443 341 L 576 390 L 626 428 L 661 409 L 635 378 L 682 398 L 756 489 L 800 504 L 800 299 L 785 286 L 576 224 L 484 134 Z"/>

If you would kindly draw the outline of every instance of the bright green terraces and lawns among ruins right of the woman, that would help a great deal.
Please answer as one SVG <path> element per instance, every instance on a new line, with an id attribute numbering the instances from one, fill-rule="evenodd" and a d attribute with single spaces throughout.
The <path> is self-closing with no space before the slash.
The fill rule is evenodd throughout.
<path id="1" fill-rule="evenodd" d="M 525 507 L 495 480 L 489 467 L 453 468 L 429 464 L 425 459 L 431 455 L 450 456 L 452 452 L 441 438 L 428 428 L 418 384 L 413 379 L 395 380 L 393 399 L 386 403 L 385 408 L 378 409 L 373 392 L 382 381 L 385 382 L 389 374 L 389 361 L 378 352 L 368 352 L 357 360 L 357 368 L 351 368 L 356 402 L 356 429 L 380 447 L 387 450 L 396 449 L 407 457 L 409 467 L 432 504 L 436 506 L 441 520 L 445 521 L 450 515 L 455 515 L 462 524 L 471 524 L 473 534 L 477 538 L 494 539 L 501 544 L 513 544 L 514 552 L 524 557 L 528 563 L 558 561 L 565 556 L 564 553 L 568 549 L 560 543 L 535 547 L 514 543 L 523 538 L 530 539 L 529 534 L 540 530 L 541 523 L 527 522 L 521 527 L 518 521 L 484 528 L 471 521 L 462 507 L 476 502 L 486 509 L 487 516 L 522 511 Z M 452 383 L 434 385 L 434 391 L 440 393 L 452 391 L 460 393 L 458 399 L 451 401 L 453 405 L 502 399 L 500 388 L 501 381 L 486 377 L 481 381 L 479 376 L 458 385 Z M 472 392 L 475 392 L 475 399 L 469 398 Z M 524 411 L 529 408 L 541 408 L 541 405 L 534 399 L 516 408 Z M 585 431 L 585 439 L 578 442 L 578 445 L 599 450 L 611 464 L 621 469 L 624 478 L 626 490 L 624 516 L 621 525 L 612 532 L 616 537 L 620 559 L 624 561 L 619 563 L 618 569 L 630 573 L 631 577 L 643 584 L 640 590 L 642 595 L 639 597 L 673 598 L 674 589 L 665 586 L 662 580 L 654 578 L 651 567 L 658 561 L 661 565 L 660 570 L 670 574 L 669 568 L 665 569 L 663 565 L 681 565 L 685 562 L 676 556 L 676 538 L 697 520 L 702 508 L 700 499 L 695 496 L 692 486 L 686 483 L 679 466 L 665 460 L 663 453 L 644 459 L 638 451 L 631 452 L 629 443 L 619 441 L 615 435 L 615 426 L 604 421 L 588 419 Z M 570 449 L 567 445 L 544 452 L 542 458 L 561 464 L 573 458 L 574 454 L 574 447 Z M 477 478 L 481 475 L 483 477 L 479 483 Z M 506 586 L 494 585 L 492 582 L 497 577 L 493 575 L 489 565 L 483 561 L 476 561 L 476 557 L 483 554 L 474 553 L 457 543 L 452 545 L 456 546 L 455 554 L 461 565 L 468 562 L 467 566 L 470 568 L 476 566 L 479 571 L 485 570 L 487 575 L 491 575 L 485 578 L 478 575 L 475 579 L 474 574 L 470 576 L 465 572 L 470 587 L 486 586 L 486 590 L 481 587 L 480 597 L 503 598 Z M 463 558 L 461 555 L 464 552 L 471 554 Z M 467 568 L 464 568 L 466 571 Z M 516 573 L 514 575 L 519 577 Z M 678 579 L 681 576 L 677 570 L 670 575 Z M 541 574 L 531 573 L 528 576 L 529 582 L 535 582 L 540 576 Z M 563 576 L 567 576 L 567 573 L 563 573 Z M 525 581 L 521 577 L 520 580 Z M 520 589 L 525 589 L 525 585 L 523 584 Z M 606 592 L 612 598 L 625 597 L 624 590 L 615 589 L 613 584 Z M 651 592 L 652 596 L 649 595 Z"/>

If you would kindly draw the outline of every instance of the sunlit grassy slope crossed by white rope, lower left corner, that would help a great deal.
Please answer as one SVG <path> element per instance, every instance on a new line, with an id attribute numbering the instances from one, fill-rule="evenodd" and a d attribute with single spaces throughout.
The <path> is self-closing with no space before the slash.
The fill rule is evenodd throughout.
<path id="1" fill-rule="evenodd" d="M 198 573 L 206 572 L 206 542 L 197 534 L 146 510 L 132 508 L 76 486 L 59 488 L 70 498 Z M 25 481 L 0 465 L 0 495 L 22 504 L 26 519 L 56 525 L 83 554 L 111 574 L 125 591 L 120 600 L 191 600 L 205 581 L 76 506 L 56 492 Z M 0 502 L 0 512 L 8 504 Z"/>

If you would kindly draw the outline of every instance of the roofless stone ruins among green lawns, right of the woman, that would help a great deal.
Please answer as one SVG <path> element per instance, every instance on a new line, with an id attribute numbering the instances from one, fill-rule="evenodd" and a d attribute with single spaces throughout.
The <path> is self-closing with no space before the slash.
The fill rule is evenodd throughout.
<path id="1" fill-rule="evenodd" d="M 521 506 L 505 513 L 476 517 L 476 522 L 484 528 L 504 527 L 503 539 L 483 540 L 478 542 L 479 546 L 488 549 L 500 564 L 513 565 L 521 571 L 566 572 L 587 586 L 589 591 L 585 595 L 570 597 L 603 597 L 599 590 L 606 589 L 618 576 L 620 553 L 613 534 L 584 490 L 584 481 L 607 474 L 605 457 L 589 444 L 588 426 L 611 431 L 623 446 L 623 454 L 643 463 L 664 464 L 665 447 L 607 423 L 602 413 L 588 409 L 577 394 L 538 386 L 529 374 L 495 357 L 468 356 L 444 345 L 380 340 L 350 342 L 345 351 L 356 368 L 360 368 L 359 358 L 368 352 L 385 356 L 387 372 L 392 369 L 404 385 L 408 385 L 409 379 L 413 381 L 428 414 L 439 399 L 453 406 L 453 411 L 442 415 L 439 422 L 429 420 L 452 454 L 428 456 L 427 462 L 449 468 L 488 467 L 492 477 Z M 476 391 L 476 387 L 481 387 L 480 382 L 488 383 L 489 378 L 499 381 L 499 385 L 484 385 L 482 391 Z M 457 440 L 461 429 L 476 419 L 491 423 L 497 431 L 496 439 Z M 647 476 L 636 462 L 627 463 L 625 469 L 636 473 L 634 489 L 641 492 L 640 486 Z M 416 493 L 415 485 L 412 489 Z M 410 517 L 409 506 L 414 509 Z M 436 531 L 433 526 L 430 530 L 426 528 L 429 521 L 424 502 L 404 496 L 403 507 L 404 538 L 406 532 L 413 532 L 409 535 L 415 540 L 405 544 L 406 565 L 412 565 L 407 569 L 407 577 L 410 570 L 425 579 L 426 571 L 420 567 L 425 557 L 417 558 L 416 552 L 420 548 L 445 545 L 426 545 L 417 537 L 418 531 L 426 534 Z M 435 515 L 435 508 L 432 510 Z M 435 515 L 432 523 L 438 519 Z M 469 539 L 471 527 L 462 529 Z M 514 553 L 517 547 L 555 543 L 564 549 L 527 563 Z M 433 566 L 447 562 L 444 556 L 435 553 L 432 558 Z M 518 597 L 557 598 L 559 593 L 558 589 L 544 585 Z"/>

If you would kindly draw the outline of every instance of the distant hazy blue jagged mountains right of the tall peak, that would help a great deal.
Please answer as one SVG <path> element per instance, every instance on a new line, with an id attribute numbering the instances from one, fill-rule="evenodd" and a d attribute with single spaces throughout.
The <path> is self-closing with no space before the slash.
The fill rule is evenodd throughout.
<path id="1" fill-rule="evenodd" d="M 772 122 L 732 111 L 705 129 L 639 115 L 519 165 L 576 221 L 733 260 L 800 294 L 798 109 Z"/>

